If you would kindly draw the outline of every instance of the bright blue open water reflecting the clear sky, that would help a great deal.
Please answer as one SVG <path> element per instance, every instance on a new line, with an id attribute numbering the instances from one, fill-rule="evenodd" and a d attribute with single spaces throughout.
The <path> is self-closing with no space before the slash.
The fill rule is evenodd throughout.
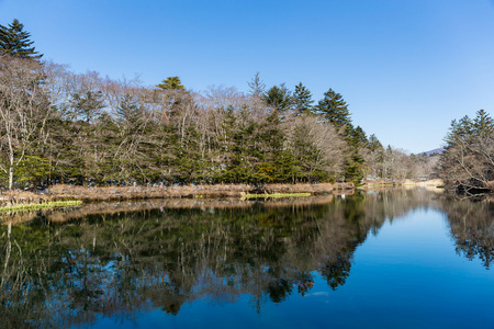
<path id="1" fill-rule="evenodd" d="M 267 303 L 260 313 L 239 296 L 224 305 L 195 300 L 178 316 L 154 309 L 130 321 L 101 318 L 93 328 L 494 328 L 494 273 L 454 252 L 438 211 L 386 222 L 352 263 L 337 291 L 313 271 L 304 297 Z"/>

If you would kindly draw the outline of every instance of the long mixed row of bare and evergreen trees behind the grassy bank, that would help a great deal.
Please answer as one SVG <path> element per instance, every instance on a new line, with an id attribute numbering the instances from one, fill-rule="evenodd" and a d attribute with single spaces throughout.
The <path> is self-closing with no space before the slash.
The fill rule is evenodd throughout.
<path id="1" fill-rule="evenodd" d="M 302 84 L 249 92 L 155 87 L 42 63 L 14 20 L 0 25 L 0 182 L 188 184 L 413 178 L 427 157 L 384 149 L 355 127 L 329 89 L 314 104 Z M 15 42 L 14 42 L 15 41 Z"/>

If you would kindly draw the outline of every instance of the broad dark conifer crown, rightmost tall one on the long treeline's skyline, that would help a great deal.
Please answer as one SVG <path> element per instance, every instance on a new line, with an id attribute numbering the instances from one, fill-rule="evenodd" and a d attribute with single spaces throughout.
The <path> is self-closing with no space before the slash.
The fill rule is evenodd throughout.
<path id="1" fill-rule="evenodd" d="M 348 104 L 341 95 L 333 89 L 324 93 L 324 98 L 317 104 L 317 112 L 327 122 L 334 124 L 336 127 L 346 127 L 349 132 L 351 128 L 351 117 L 348 111 Z"/>

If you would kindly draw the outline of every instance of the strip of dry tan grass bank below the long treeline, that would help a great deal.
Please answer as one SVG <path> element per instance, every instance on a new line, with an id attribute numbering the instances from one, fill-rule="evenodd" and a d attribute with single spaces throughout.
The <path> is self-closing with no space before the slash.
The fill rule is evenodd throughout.
<path id="1" fill-rule="evenodd" d="M 255 186 L 249 184 L 215 184 L 215 185 L 181 185 L 181 186 L 75 186 L 67 184 L 52 185 L 41 193 L 22 190 L 0 192 L 0 209 L 15 211 L 26 206 L 36 208 L 50 207 L 49 204 L 60 202 L 120 202 L 167 198 L 222 198 L 234 197 L 303 197 L 307 195 L 348 194 L 357 189 L 381 188 L 434 188 L 441 185 L 441 181 L 371 181 L 355 186 L 353 183 L 317 183 L 317 184 L 266 184 Z"/>

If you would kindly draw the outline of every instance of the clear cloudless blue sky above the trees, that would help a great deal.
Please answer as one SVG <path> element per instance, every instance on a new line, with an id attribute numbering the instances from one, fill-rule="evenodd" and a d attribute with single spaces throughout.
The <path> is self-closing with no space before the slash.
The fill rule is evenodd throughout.
<path id="1" fill-rule="evenodd" d="M 300 81 L 329 88 L 355 125 L 412 152 L 451 120 L 494 111 L 494 0 L 0 0 L 46 59 L 194 91 Z"/>

